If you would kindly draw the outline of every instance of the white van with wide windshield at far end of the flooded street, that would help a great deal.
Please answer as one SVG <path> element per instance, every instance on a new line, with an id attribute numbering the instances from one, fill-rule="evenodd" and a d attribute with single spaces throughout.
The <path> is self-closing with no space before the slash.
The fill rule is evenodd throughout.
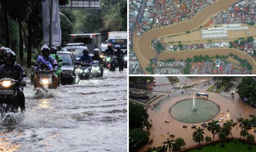
<path id="1" fill-rule="evenodd" d="M 108 44 L 112 44 L 113 49 L 117 51 L 116 45 L 120 45 L 121 50 L 127 50 L 127 32 L 109 32 Z"/>

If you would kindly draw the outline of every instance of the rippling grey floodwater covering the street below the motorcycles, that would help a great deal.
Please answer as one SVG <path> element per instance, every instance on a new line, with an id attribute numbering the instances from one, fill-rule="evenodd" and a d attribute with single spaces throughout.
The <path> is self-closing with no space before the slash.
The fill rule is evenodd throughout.
<path id="1" fill-rule="evenodd" d="M 60 86 L 24 88 L 26 112 L 0 119 L 0 151 L 127 151 L 127 71 Z"/>

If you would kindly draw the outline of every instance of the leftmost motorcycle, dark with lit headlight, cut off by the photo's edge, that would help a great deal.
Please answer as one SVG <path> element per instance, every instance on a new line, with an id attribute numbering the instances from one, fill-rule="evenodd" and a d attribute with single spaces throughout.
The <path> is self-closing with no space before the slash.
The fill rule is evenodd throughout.
<path id="1" fill-rule="evenodd" d="M 10 78 L 0 80 L 0 113 L 16 112 L 18 110 L 19 82 Z"/>

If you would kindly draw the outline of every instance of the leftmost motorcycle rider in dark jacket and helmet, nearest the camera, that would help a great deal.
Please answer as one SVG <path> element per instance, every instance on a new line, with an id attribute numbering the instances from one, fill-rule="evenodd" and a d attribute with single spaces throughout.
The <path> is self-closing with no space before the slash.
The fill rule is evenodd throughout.
<path id="1" fill-rule="evenodd" d="M 15 63 L 16 55 L 13 51 L 6 51 L 4 64 L 0 66 L 0 79 L 11 78 L 19 82 L 17 89 L 17 100 L 21 112 L 25 110 L 25 96 L 23 87 L 26 85 L 26 75 L 23 68 Z"/>

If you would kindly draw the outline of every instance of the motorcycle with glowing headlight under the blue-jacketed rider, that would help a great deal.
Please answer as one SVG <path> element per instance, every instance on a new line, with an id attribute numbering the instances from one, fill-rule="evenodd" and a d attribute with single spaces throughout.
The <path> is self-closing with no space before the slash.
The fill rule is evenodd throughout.
<path id="1" fill-rule="evenodd" d="M 35 66 L 38 66 L 35 64 Z M 54 65 L 57 66 L 57 65 Z M 41 63 L 39 69 L 36 71 L 36 75 L 39 75 L 39 87 L 46 90 L 53 89 L 52 75 L 55 73 L 54 69 L 48 69 L 46 64 Z"/>

